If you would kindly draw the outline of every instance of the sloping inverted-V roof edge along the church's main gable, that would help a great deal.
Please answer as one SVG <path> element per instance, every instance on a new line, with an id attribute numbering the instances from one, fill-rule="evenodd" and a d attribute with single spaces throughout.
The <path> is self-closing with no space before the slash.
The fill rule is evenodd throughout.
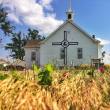
<path id="1" fill-rule="evenodd" d="M 72 24 L 74 27 L 76 27 L 80 32 L 82 32 L 84 35 L 86 35 L 89 39 L 91 39 L 93 42 L 100 44 L 100 41 L 93 38 L 91 35 L 89 35 L 87 32 L 85 32 L 82 28 L 80 28 L 78 25 L 76 25 L 75 23 L 67 20 L 66 22 L 64 22 L 61 26 L 59 26 L 54 32 L 52 32 L 44 41 L 42 41 L 42 43 L 46 42 L 54 33 L 56 33 L 59 29 L 63 28 L 64 25 L 66 25 L 67 23 Z"/>

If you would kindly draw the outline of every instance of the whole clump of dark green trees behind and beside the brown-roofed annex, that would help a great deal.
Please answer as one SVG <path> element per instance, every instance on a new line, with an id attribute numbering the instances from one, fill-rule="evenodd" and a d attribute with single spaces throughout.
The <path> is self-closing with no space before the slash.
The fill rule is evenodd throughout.
<path id="1" fill-rule="evenodd" d="M 23 60 L 25 56 L 24 46 L 28 40 L 42 40 L 44 37 L 38 34 L 37 30 L 29 30 L 26 35 L 21 32 L 13 33 L 11 37 L 11 43 L 7 43 L 5 46 L 6 50 L 10 50 L 10 56 L 14 59 Z"/>

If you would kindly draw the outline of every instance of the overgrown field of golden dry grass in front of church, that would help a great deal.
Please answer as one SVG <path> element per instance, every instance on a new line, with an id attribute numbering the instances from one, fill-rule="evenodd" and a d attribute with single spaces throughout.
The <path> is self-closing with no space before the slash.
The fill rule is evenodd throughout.
<path id="1" fill-rule="evenodd" d="M 110 68 L 1 71 L 0 110 L 110 110 Z"/>

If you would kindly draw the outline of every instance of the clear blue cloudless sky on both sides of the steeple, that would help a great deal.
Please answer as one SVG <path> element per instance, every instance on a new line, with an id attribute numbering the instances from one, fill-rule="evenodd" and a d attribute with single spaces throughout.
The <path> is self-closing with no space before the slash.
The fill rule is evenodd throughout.
<path id="1" fill-rule="evenodd" d="M 63 1 L 62 6 L 59 0 L 53 3 L 58 19 L 65 19 L 67 0 Z M 73 0 L 72 6 L 75 12 L 75 23 L 90 34 L 110 40 L 110 0 Z"/>

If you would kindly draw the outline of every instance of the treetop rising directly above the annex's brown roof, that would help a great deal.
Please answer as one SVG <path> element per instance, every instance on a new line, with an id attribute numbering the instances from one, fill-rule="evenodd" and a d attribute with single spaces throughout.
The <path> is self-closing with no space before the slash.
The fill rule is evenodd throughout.
<path id="1" fill-rule="evenodd" d="M 45 37 L 39 35 L 39 31 L 35 29 L 28 29 L 27 40 L 44 40 Z"/>

